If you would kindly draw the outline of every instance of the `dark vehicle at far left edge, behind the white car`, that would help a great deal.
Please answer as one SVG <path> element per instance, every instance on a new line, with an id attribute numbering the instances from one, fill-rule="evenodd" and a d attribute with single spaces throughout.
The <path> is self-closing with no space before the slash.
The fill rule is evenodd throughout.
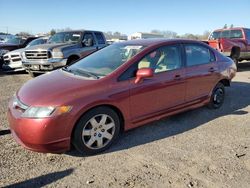
<path id="1" fill-rule="evenodd" d="M 9 51 L 20 49 L 26 47 L 32 40 L 36 39 L 37 37 L 28 37 L 28 38 L 21 38 L 15 37 L 9 39 L 6 43 L 0 44 L 0 69 L 2 68 L 2 64 L 4 62 L 3 55 L 8 53 Z"/>

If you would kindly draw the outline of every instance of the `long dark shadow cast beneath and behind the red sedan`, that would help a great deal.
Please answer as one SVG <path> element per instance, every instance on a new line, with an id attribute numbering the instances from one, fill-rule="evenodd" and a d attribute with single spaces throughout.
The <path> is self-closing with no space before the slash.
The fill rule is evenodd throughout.
<path id="1" fill-rule="evenodd" d="M 250 83 L 233 82 L 231 87 L 226 88 L 226 98 L 220 109 L 211 110 L 207 107 L 201 107 L 130 130 L 123 133 L 111 148 L 99 155 L 132 148 L 182 133 L 185 134 L 189 130 L 222 116 L 245 115 L 248 111 L 243 110 L 243 108 L 250 105 L 249 93 Z M 235 122 L 235 126 L 238 123 Z M 215 124 L 214 126 L 219 125 Z M 67 152 L 66 155 L 87 157 L 79 154 L 75 149 Z"/>

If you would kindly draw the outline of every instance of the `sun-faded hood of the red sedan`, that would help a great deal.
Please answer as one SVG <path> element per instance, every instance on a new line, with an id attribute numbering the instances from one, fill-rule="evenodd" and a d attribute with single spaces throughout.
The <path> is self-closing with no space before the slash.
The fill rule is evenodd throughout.
<path id="1" fill-rule="evenodd" d="M 76 99 L 92 96 L 100 88 L 99 84 L 100 80 L 88 80 L 56 70 L 26 82 L 17 92 L 17 97 L 28 106 L 67 105 Z"/>

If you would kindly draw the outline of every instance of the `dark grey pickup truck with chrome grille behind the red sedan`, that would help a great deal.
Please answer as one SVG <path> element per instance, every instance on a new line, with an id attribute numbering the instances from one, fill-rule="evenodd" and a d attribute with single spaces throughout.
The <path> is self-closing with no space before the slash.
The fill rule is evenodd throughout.
<path id="1" fill-rule="evenodd" d="M 106 45 L 100 31 L 59 32 L 47 44 L 26 49 L 22 54 L 23 66 L 34 77 L 75 62 Z"/>

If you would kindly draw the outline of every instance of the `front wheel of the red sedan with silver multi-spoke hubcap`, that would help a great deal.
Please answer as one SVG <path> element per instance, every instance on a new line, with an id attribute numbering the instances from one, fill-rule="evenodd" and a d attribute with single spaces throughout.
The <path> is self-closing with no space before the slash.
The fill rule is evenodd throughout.
<path id="1" fill-rule="evenodd" d="M 82 154 L 96 154 L 106 150 L 117 139 L 120 119 L 108 107 L 98 107 L 84 114 L 73 132 L 72 143 Z"/>

